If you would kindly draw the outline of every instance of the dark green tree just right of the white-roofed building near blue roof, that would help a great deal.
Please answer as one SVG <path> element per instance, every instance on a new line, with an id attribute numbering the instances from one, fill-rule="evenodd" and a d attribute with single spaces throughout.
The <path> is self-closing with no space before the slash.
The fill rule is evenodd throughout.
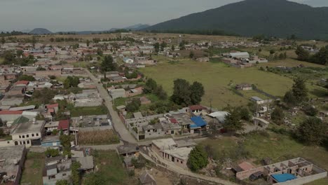
<path id="1" fill-rule="evenodd" d="M 243 130 L 243 124 L 240 119 L 241 118 L 238 109 L 231 111 L 231 114 L 228 114 L 225 117 L 224 130 L 228 132 L 237 132 L 239 130 Z"/>

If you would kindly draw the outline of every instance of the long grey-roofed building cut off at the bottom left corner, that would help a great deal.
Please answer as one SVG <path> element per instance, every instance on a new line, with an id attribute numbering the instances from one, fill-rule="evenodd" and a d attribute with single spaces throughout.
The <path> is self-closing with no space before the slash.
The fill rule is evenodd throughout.
<path id="1" fill-rule="evenodd" d="M 27 150 L 24 145 L 0 148 L 1 184 L 20 184 Z"/>

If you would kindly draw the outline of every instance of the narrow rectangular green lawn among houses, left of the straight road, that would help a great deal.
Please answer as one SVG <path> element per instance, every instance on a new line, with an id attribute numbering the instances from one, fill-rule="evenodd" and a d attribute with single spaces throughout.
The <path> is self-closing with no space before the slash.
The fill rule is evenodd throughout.
<path id="1" fill-rule="evenodd" d="M 88 115 L 103 115 L 108 113 L 107 107 L 74 107 L 71 111 L 71 117 L 88 116 Z"/>

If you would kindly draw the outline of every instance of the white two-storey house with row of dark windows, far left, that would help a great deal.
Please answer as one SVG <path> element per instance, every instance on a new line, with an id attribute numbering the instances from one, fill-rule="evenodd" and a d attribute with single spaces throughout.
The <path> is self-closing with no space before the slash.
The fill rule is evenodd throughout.
<path id="1" fill-rule="evenodd" d="M 15 145 L 30 146 L 41 145 L 44 136 L 45 121 L 29 121 L 18 124 L 12 131 L 11 137 Z"/>

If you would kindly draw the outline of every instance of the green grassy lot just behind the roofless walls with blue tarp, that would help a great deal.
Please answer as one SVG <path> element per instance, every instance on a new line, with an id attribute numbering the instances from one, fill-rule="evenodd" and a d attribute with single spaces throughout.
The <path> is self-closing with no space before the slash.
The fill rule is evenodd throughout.
<path id="1" fill-rule="evenodd" d="M 274 132 L 269 134 L 250 134 L 244 138 L 222 137 L 219 139 L 207 139 L 200 144 L 210 145 L 214 151 L 214 157 L 222 158 L 227 154 L 232 155 L 233 151 L 238 151 L 238 142 L 243 151 L 247 153 L 247 158 L 254 160 L 260 166 L 260 160 L 271 158 L 273 163 L 290 158 L 302 157 L 315 165 L 328 170 L 328 151 L 318 146 L 304 146 L 287 135 L 280 135 Z M 231 156 L 228 156 L 231 158 Z M 233 162 L 238 163 L 242 158 L 233 158 Z M 328 178 L 310 183 L 310 185 L 328 184 Z"/>

